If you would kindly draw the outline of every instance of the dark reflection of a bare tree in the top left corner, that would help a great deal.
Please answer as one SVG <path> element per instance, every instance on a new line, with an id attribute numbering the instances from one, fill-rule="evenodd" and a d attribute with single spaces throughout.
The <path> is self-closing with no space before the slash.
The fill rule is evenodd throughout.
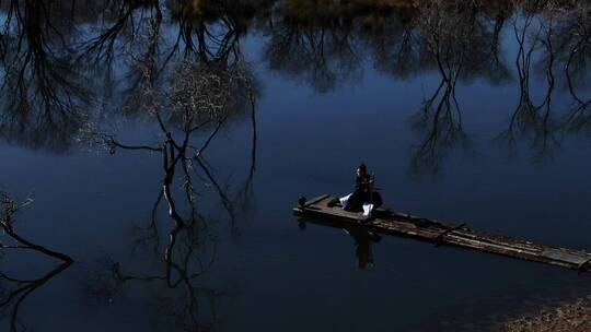
<path id="1" fill-rule="evenodd" d="M 30 149 L 61 152 L 84 121 L 92 97 L 73 66 L 73 1 L 2 1 L 3 94 L 0 138 Z"/>

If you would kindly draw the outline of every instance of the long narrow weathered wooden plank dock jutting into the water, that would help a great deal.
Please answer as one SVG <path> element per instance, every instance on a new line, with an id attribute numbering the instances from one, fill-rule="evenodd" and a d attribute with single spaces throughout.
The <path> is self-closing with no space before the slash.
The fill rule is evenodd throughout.
<path id="1" fill-rule="evenodd" d="M 447 225 L 437 221 L 379 209 L 370 220 L 360 213 L 344 211 L 339 206 L 328 206 L 333 197 L 325 194 L 300 202 L 293 213 L 300 217 L 317 221 L 332 226 L 358 226 L 387 235 L 407 236 L 437 245 L 449 245 L 479 250 L 507 257 L 558 265 L 584 272 L 591 269 L 591 253 L 509 238 L 500 235 L 476 232 L 465 224 Z"/>

